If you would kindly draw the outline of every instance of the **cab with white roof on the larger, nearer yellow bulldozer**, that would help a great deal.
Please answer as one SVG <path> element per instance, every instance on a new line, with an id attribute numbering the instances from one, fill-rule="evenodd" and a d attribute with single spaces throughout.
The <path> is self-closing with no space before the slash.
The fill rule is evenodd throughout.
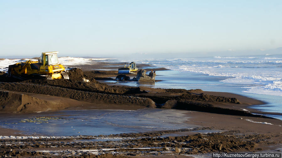
<path id="1" fill-rule="evenodd" d="M 57 53 L 58 52 L 43 52 L 38 59 L 40 65 L 52 66 L 59 64 Z"/>

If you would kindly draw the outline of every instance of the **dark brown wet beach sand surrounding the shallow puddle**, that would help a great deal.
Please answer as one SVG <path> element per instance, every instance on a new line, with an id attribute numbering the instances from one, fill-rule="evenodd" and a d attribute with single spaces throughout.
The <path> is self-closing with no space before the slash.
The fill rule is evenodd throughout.
<path id="1" fill-rule="evenodd" d="M 125 139 L 109 142 L 77 142 L 77 140 L 97 139 L 94 136 L 52 139 L 3 137 L 0 140 L 3 146 L 0 149 L 0 156 L 188 157 L 189 154 L 211 152 L 253 152 L 269 149 L 273 151 L 277 147 L 275 145 L 282 144 L 282 121 L 262 115 L 253 115 L 252 113 L 274 113 L 248 108 L 250 105 L 264 104 L 259 100 L 231 93 L 205 92 L 200 89 L 109 86 L 95 80 L 116 75 L 113 69 L 118 68 L 119 65 L 121 63 L 82 65 L 80 66 L 82 71 L 75 69 L 69 72 L 70 80 L 17 81 L 1 75 L 0 90 L 3 100 L 0 104 L 1 113 L 3 115 L 9 113 L 33 115 L 38 111 L 57 110 L 137 110 L 148 107 L 180 109 L 185 111 L 185 117 L 189 118 L 186 124 L 194 127 L 156 132 L 151 130 L 149 133 L 127 134 L 126 132 L 118 135 L 100 135 L 101 138 L 107 139 Z M 141 64 L 138 65 L 141 66 Z M 150 68 L 150 65 L 142 66 L 148 70 L 160 70 L 156 67 Z M 102 70 L 108 67 L 110 71 Z M 82 77 L 91 82 L 82 82 Z M 3 130 L 3 128 L 0 130 L 0 135 L 22 135 L 18 130 Z M 196 133 L 220 131 L 221 133 L 196 134 L 193 131 Z M 172 136 L 167 137 L 169 135 Z M 20 145 L 19 142 L 24 142 L 24 144 Z M 56 152 L 53 151 L 53 146 L 57 146 Z"/>

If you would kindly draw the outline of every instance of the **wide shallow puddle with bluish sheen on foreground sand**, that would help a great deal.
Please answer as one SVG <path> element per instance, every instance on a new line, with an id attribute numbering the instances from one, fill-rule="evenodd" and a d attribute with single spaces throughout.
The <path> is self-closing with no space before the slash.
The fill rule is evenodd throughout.
<path id="1" fill-rule="evenodd" d="M 40 117 L 59 119 L 21 121 L 38 120 Z M 197 127 L 189 125 L 188 120 L 187 111 L 173 109 L 66 110 L 0 116 L 0 125 L 28 135 L 110 135 Z"/>

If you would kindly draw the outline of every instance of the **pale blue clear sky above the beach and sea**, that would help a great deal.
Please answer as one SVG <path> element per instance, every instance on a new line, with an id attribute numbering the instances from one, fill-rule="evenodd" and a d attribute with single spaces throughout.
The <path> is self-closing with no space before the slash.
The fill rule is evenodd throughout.
<path id="1" fill-rule="evenodd" d="M 281 0 L 0 0 L 0 56 L 265 54 L 282 47 L 281 8 Z"/>

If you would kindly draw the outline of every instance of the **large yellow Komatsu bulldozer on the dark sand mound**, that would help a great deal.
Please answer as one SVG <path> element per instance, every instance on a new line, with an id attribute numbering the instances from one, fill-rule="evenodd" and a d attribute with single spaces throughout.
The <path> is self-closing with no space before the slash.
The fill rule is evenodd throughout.
<path id="1" fill-rule="evenodd" d="M 26 62 L 9 65 L 8 76 L 17 79 L 69 79 L 65 67 L 59 63 L 57 53 L 43 52 L 38 61 L 28 60 Z"/>

